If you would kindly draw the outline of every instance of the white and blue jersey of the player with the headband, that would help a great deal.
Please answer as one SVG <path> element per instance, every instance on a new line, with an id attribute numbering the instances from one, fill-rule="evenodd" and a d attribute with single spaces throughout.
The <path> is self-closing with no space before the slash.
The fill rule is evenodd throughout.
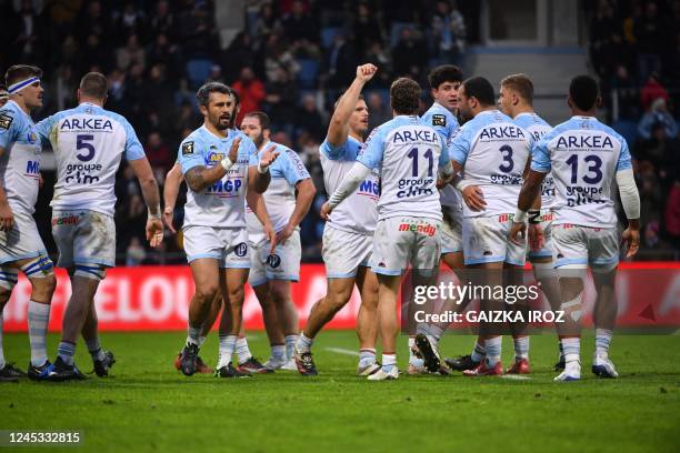
<path id="1" fill-rule="evenodd" d="M 42 145 L 30 115 L 14 102 L 0 109 L 0 183 L 14 212 L 36 212 Z"/>

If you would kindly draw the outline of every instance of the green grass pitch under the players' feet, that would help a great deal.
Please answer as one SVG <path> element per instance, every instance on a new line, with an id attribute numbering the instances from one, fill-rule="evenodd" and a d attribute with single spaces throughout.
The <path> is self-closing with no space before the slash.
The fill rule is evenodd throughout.
<path id="1" fill-rule="evenodd" d="M 172 368 L 181 333 L 111 333 L 118 358 L 107 380 L 0 384 L 0 429 L 80 430 L 66 451 L 463 451 L 677 452 L 680 450 L 680 336 L 619 335 L 617 381 L 590 374 L 593 339 L 583 344 L 583 380 L 553 383 L 557 342 L 533 336 L 531 380 L 459 375 L 368 382 L 353 375 L 353 332 L 324 332 L 314 351 L 320 375 L 277 372 L 247 380 L 184 378 Z M 58 339 L 50 336 L 50 351 Z M 447 336 L 449 355 L 470 338 Z M 251 350 L 266 359 L 263 333 Z M 400 340 L 406 365 L 406 339 Z M 511 360 L 504 341 L 503 363 Z M 91 362 L 79 345 L 77 363 Z M 28 362 L 26 335 L 7 334 L 8 361 Z M 217 336 L 202 356 L 214 365 Z M 4 450 L 4 449 L 0 449 Z M 21 449 L 20 451 L 44 451 Z M 57 451 L 58 449 L 48 449 Z"/>

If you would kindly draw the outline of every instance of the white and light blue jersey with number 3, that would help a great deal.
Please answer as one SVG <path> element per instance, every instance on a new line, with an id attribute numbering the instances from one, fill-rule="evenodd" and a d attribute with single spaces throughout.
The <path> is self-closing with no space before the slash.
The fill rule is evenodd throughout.
<path id="1" fill-rule="evenodd" d="M 479 185 L 487 202 L 482 211 L 464 204 L 463 217 L 514 213 L 532 142 L 529 132 L 498 110 L 483 111 L 460 128 L 449 153 L 463 167 L 463 181 Z"/>

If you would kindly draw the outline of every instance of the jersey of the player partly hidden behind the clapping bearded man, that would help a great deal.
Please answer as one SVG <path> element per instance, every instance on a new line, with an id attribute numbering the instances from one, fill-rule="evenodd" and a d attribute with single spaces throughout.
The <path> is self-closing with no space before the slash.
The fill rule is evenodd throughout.
<path id="1" fill-rule="evenodd" d="M 269 168 L 271 181 L 262 198 L 267 205 L 269 219 L 274 231 L 278 233 L 288 225 L 290 217 L 296 210 L 296 184 L 311 177 L 298 154 L 282 144 L 274 142 L 264 143 L 262 150 L 258 153 L 258 159 L 272 145 L 276 147 L 279 157 Z M 248 205 L 246 207 L 246 220 L 250 243 L 258 245 L 266 241 L 267 236 L 264 235 L 262 223 L 260 223 L 254 212 Z"/>

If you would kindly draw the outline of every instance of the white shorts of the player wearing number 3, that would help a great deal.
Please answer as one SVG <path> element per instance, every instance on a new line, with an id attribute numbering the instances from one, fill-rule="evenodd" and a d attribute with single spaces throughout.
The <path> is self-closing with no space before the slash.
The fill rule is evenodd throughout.
<path id="1" fill-rule="evenodd" d="M 512 214 L 463 219 L 463 259 L 466 265 L 506 262 L 524 265 L 527 241 L 510 241 Z"/>

